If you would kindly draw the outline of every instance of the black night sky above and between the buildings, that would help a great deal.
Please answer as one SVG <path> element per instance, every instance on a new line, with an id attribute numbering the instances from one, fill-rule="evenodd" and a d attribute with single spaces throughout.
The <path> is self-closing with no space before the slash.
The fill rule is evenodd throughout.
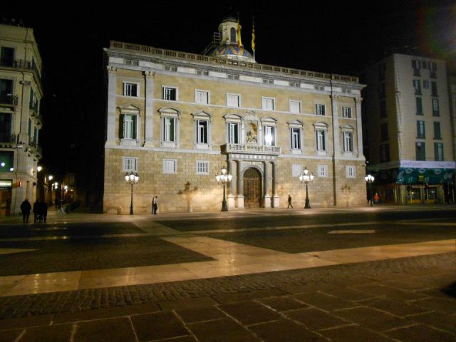
<path id="1" fill-rule="evenodd" d="M 81 184 L 98 190 L 105 135 L 103 47 L 117 40 L 201 53 L 229 11 L 225 1 L 8 2 L 0 6 L 1 17 L 33 28 L 43 58 L 41 165 L 56 175 L 76 170 Z M 255 17 L 259 63 L 354 75 L 388 49 L 408 46 L 445 58 L 455 71 L 455 1 L 231 4 L 249 50 Z"/>

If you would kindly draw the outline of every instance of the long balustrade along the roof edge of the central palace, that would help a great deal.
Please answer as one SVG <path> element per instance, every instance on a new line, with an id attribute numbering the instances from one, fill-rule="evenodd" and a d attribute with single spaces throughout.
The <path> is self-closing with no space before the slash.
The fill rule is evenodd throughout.
<path id="1" fill-rule="evenodd" d="M 354 76 L 335 75 L 331 73 L 316 73 L 314 71 L 283 68 L 281 66 L 268 66 L 266 64 L 237 61 L 214 56 L 197 55 L 195 53 L 165 50 L 164 48 L 154 48 L 152 46 L 145 46 L 140 44 L 123 43 L 121 41 L 110 41 L 110 48 L 135 51 L 139 53 L 150 53 L 152 55 L 167 56 L 172 58 L 182 58 L 188 59 L 190 61 L 203 61 L 209 63 L 226 64 L 229 66 L 238 66 L 242 68 L 257 69 L 261 71 L 272 71 L 281 74 L 288 74 L 289 76 L 307 76 L 312 78 L 323 78 L 326 80 L 332 79 L 335 81 L 359 83 L 359 78 Z"/>

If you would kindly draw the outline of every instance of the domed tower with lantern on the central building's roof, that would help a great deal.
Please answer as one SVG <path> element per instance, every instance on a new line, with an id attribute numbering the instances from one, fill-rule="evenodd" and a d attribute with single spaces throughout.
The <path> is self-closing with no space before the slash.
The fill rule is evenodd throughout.
<path id="1" fill-rule="evenodd" d="M 254 62 L 252 53 L 244 48 L 240 37 L 238 41 L 241 26 L 239 26 L 239 32 L 237 27 L 237 19 L 234 16 L 224 16 L 222 22 L 219 24 L 219 45 L 212 48 L 209 52 L 210 56 Z"/>

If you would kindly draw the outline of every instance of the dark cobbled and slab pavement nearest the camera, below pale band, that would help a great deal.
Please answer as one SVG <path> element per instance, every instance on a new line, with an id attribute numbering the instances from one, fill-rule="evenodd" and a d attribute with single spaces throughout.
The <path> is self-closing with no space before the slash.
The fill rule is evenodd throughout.
<path id="1" fill-rule="evenodd" d="M 456 341 L 456 255 L 0 298 L 0 341 Z"/>

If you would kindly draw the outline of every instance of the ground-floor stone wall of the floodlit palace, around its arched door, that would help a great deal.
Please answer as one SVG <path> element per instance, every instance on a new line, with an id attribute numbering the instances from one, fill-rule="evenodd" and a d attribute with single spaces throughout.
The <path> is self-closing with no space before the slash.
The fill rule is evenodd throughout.
<path id="1" fill-rule="evenodd" d="M 215 176 L 223 166 L 227 166 L 227 155 L 208 153 L 189 153 L 175 151 L 128 150 L 107 148 L 105 150 L 105 180 L 103 211 L 110 214 L 128 214 L 130 212 L 131 187 L 125 182 L 123 157 L 134 157 L 138 160 L 140 180 L 133 186 L 133 207 L 135 214 L 150 213 L 152 198 L 158 195 L 159 211 L 186 212 L 192 210 L 219 210 L 222 207 L 223 187 Z M 176 172 L 164 172 L 164 160 L 175 160 Z M 197 160 L 208 162 L 207 174 L 197 174 Z M 287 207 L 288 195 L 291 195 L 294 207 L 304 207 L 306 186 L 293 174 L 296 165 L 307 167 L 315 175 L 309 184 L 309 199 L 312 207 L 353 206 L 366 204 L 366 182 L 364 180 L 363 161 L 338 160 L 333 170 L 331 159 L 309 159 L 306 157 L 274 157 L 274 160 L 232 159 L 230 172 L 233 175 L 232 185 L 227 185 L 226 195 L 230 207 L 238 207 L 239 191 L 237 171 L 254 167 L 261 175 L 260 193 L 276 200 L 261 200 L 261 206 Z M 241 165 L 237 166 L 240 162 Z M 276 186 L 274 193 L 273 163 L 276 167 Z M 318 166 L 326 165 L 326 177 L 318 176 Z M 355 168 L 354 177 L 346 177 L 346 165 Z M 264 167 L 267 168 L 267 181 L 264 181 Z M 336 181 L 334 181 L 336 175 Z M 264 185 L 267 186 L 265 192 Z M 242 187 L 242 185 L 241 185 Z M 336 201 L 334 193 L 336 192 Z M 229 200 L 231 197 L 231 201 Z"/>

